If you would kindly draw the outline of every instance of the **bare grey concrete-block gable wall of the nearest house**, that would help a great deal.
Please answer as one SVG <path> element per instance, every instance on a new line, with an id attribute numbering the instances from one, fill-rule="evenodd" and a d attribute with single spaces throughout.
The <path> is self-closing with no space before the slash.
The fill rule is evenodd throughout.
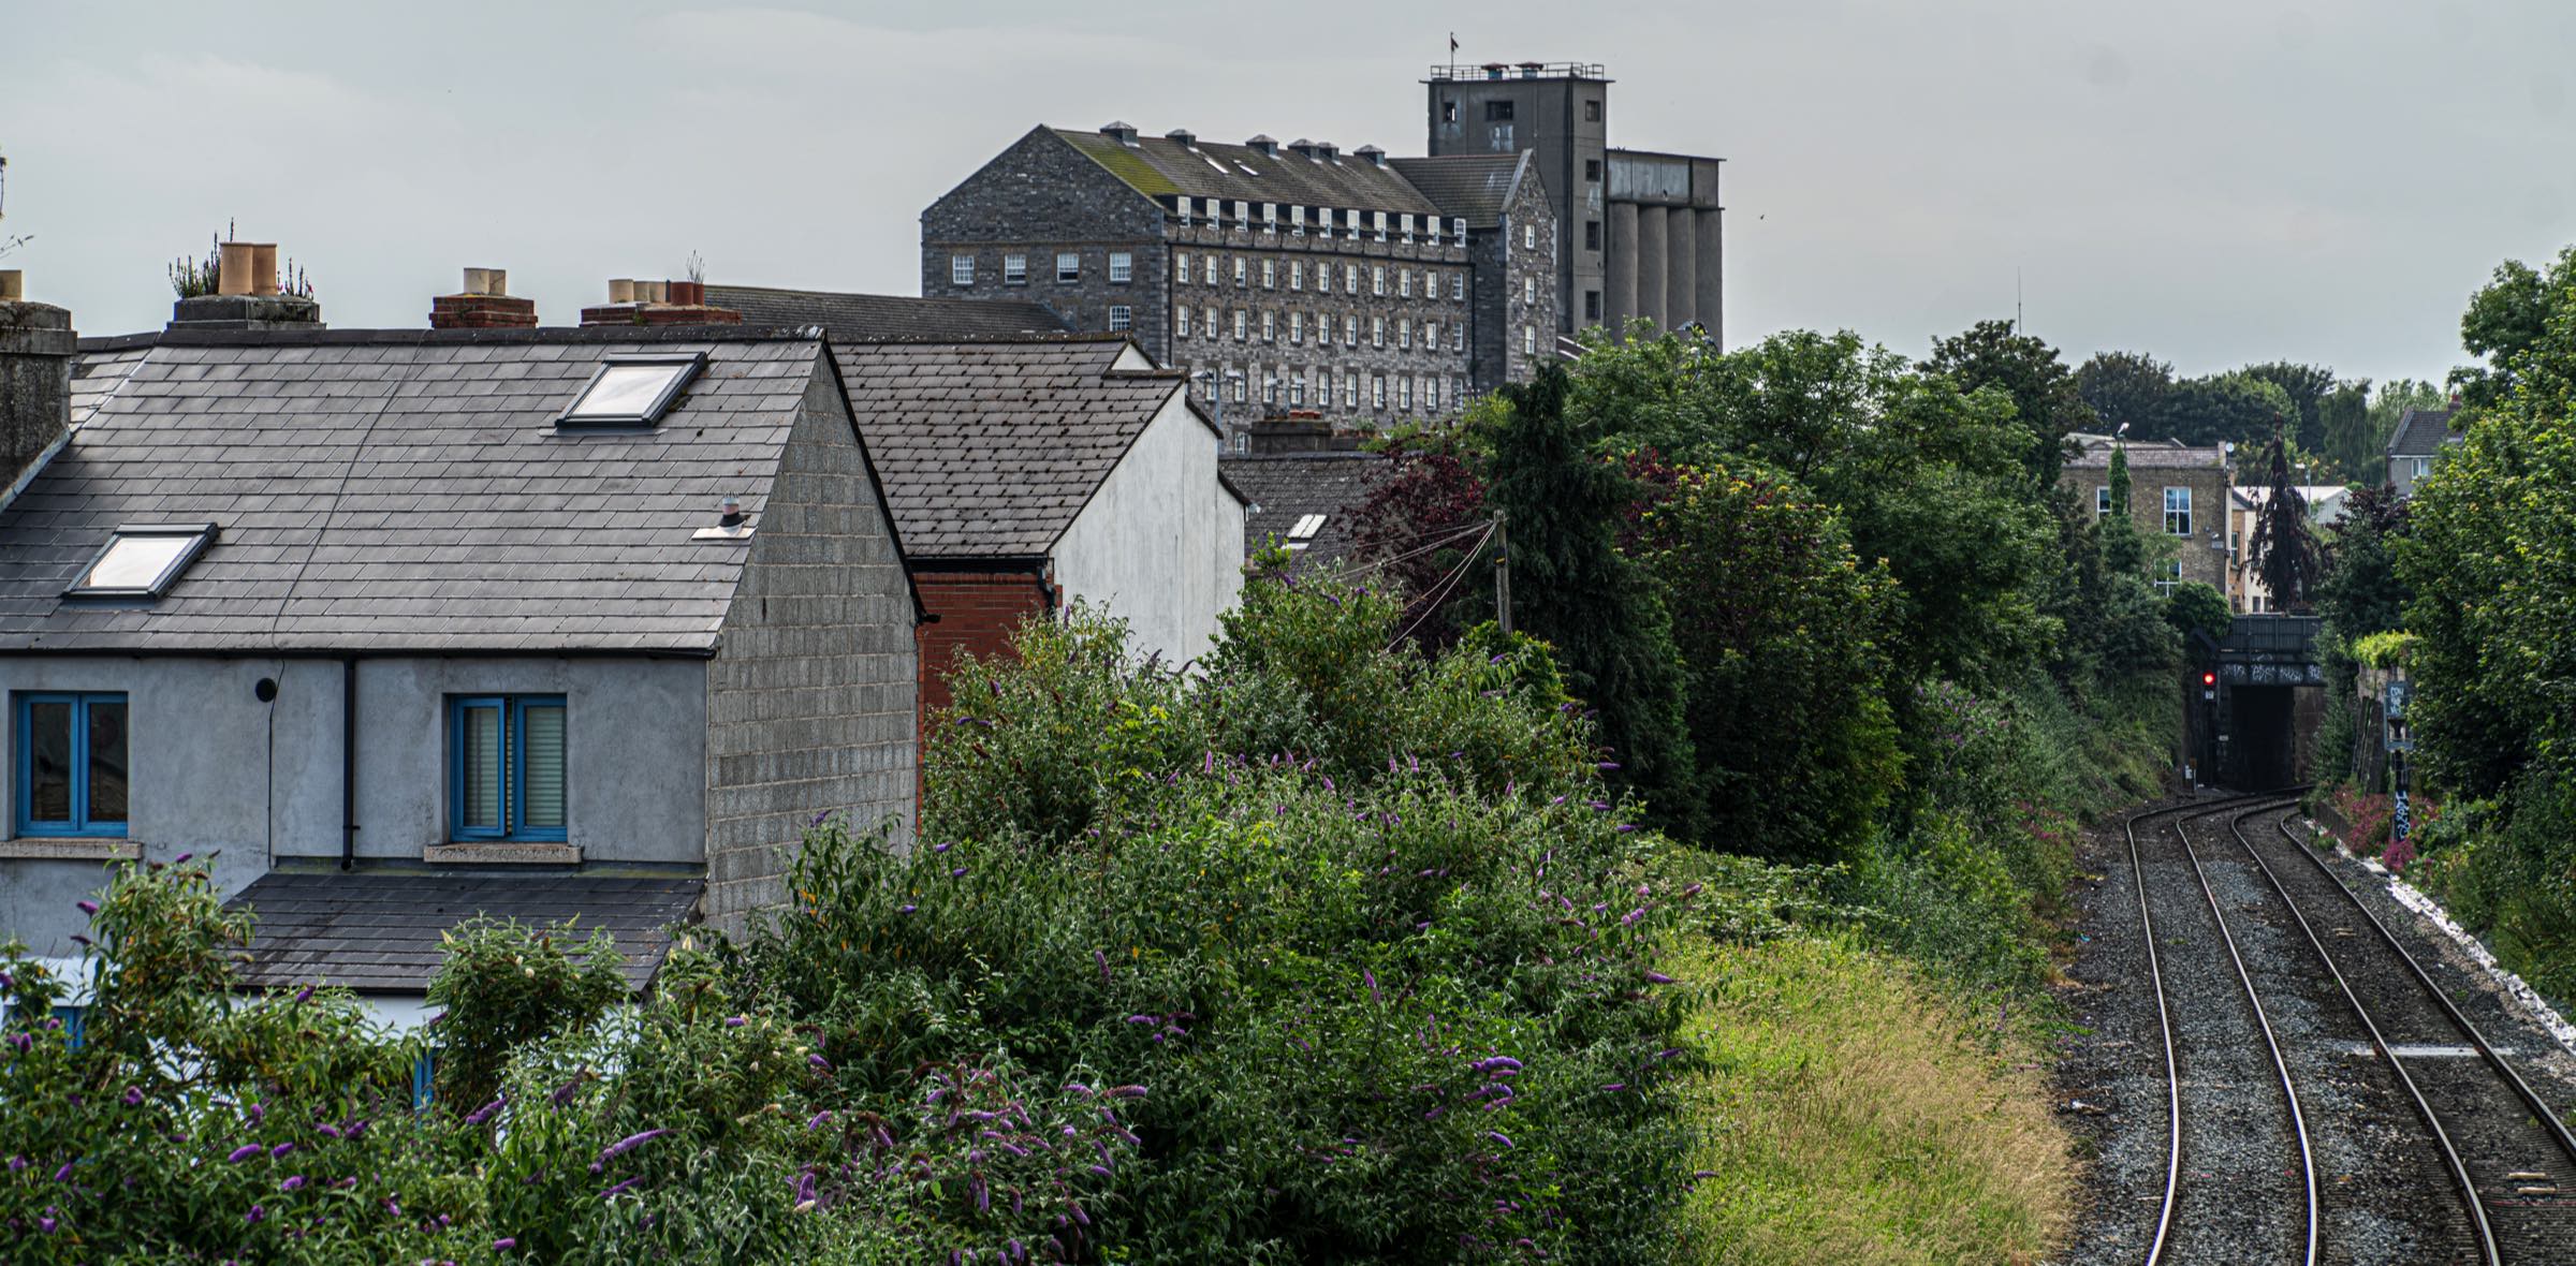
<path id="1" fill-rule="evenodd" d="M 853 831 L 914 803 L 912 589 L 850 407 L 819 365 L 706 669 L 706 921 L 781 906 L 819 813 Z"/>

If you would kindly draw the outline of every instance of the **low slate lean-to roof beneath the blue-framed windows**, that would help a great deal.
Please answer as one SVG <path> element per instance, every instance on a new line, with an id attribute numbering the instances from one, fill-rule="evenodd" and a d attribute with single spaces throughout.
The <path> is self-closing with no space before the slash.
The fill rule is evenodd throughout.
<path id="1" fill-rule="evenodd" d="M 616 937 L 626 986 L 641 991 L 670 952 L 670 926 L 698 908 L 706 880 L 600 875 L 304 875 L 268 872 L 224 906 L 258 921 L 242 983 L 420 993 L 438 970 L 438 934 L 489 913 L 528 926 L 574 919 Z"/>

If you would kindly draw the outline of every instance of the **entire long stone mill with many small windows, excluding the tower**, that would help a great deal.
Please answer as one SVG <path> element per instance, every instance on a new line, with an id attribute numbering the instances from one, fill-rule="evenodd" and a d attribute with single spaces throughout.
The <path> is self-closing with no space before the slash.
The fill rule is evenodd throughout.
<path id="1" fill-rule="evenodd" d="M 1556 216 L 1525 154 L 1041 126 L 922 211 L 922 296 L 1126 332 L 1242 422 L 1445 417 L 1556 353 Z"/>

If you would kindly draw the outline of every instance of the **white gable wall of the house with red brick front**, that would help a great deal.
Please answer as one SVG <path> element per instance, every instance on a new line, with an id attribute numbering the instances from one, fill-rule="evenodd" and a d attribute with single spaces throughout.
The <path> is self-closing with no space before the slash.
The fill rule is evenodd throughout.
<path id="1" fill-rule="evenodd" d="M 1216 509 L 1188 497 L 1213 497 Z M 1175 391 L 1056 540 L 1056 584 L 1128 620 L 1128 646 L 1185 664 L 1244 592 L 1244 504 L 1216 476 L 1208 427 Z M 1231 564 L 1231 566 L 1229 566 Z"/>

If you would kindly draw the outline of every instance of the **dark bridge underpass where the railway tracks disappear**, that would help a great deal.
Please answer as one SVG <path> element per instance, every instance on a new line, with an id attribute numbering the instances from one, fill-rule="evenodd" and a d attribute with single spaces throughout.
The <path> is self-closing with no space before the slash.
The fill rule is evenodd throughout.
<path id="1" fill-rule="evenodd" d="M 2316 615 L 2239 615 L 2218 643 L 2200 638 L 2187 677 L 2184 726 L 2205 780 L 2264 790 L 2308 782 L 2326 666 Z"/>

